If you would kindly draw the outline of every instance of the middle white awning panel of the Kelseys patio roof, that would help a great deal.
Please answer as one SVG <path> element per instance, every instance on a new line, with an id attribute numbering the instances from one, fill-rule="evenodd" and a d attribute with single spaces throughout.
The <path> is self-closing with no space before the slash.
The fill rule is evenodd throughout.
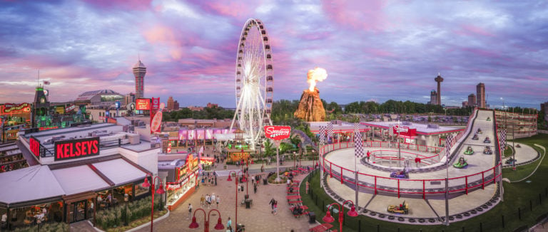
<path id="1" fill-rule="evenodd" d="M 52 170 L 66 195 L 108 188 L 108 185 L 88 165 Z"/>

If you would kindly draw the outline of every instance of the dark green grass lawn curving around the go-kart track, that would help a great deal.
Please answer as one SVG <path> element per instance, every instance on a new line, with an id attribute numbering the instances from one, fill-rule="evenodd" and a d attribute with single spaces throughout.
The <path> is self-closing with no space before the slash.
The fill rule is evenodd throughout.
<path id="1" fill-rule="evenodd" d="M 548 148 L 548 135 L 536 135 L 534 137 L 516 139 L 516 142 L 528 144 L 537 151 L 543 154 L 542 149 L 533 144 L 540 144 Z M 532 164 L 527 164 L 518 167 L 516 171 L 512 169 L 504 169 L 502 176 L 511 180 L 521 179 L 529 175 L 532 170 L 537 167 L 540 161 Z M 380 221 L 367 216 L 357 216 L 351 218 L 345 215 L 344 231 L 357 231 L 358 221 L 361 223 L 361 231 L 514 231 L 520 226 L 533 226 L 536 224 L 536 219 L 543 213 L 548 213 L 548 159 L 543 159 L 537 172 L 526 181 L 517 183 L 503 183 L 504 186 L 504 202 L 500 202 L 494 209 L 475 216 L 466 221 L 451 223 L 450 226 L 418 226 L 402 223 L 393 223 L 388 221 Z M 306 180 L 306 179 L 305 179 Z M 530 181 L 527 183 L 527 181 Z M 310 190 L 313 192 L 313 197 L 310 194 L 305 194 L 305 185 L 300 188 L 300 194 L 303 199 L 303 204 L 309 207 L 309 211 L 316 214 L 316 220 L 322 222 L 325 216 L 325 206 L 335 201 L 331 199 L 325 191 L 320 188 L 320 172 L 315 172 L 311 178 Z M 476 190 L 482 191 L 482 190 Z M 540 198 L 540 199 L 539 199 Z M 318 202 L 316 202 L 318 201 Z M 316 204 L 318 203 L 318 204 Z M 323 206 L 323 207 L 320 207 Z M 411 206 L 412 207 L 412 206 Z M 335 207 L 336 209 L 337 207 Z M 346 213 L 347 210 L 345 210 Z M 521 216 L 521 219 L 519 218 Z M 333 228 L 338 228 L 338 218 L 335 217 Z M 504 217 L 504 228 L 502 227 L 502 218 Z M 398 230 L 399 228 L 399 230 Z"/>

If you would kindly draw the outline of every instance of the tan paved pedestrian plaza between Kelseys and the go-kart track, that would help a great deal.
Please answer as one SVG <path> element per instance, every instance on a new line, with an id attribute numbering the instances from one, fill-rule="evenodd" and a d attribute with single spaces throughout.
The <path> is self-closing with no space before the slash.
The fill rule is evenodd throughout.
<path id="1" fill-rule="evenodd" d="M 275 162 L 274 162 L 275 163 Z M 301 162 L 303 166 L 313 165 L 313 162 Z M 250 175 L 254 176 L 255 174 L 260 174 L 260 166 L 262 164 L 250 164 Z M 219 171 L 223 171 L 223 168 L 218 166 Z M 285 162 L 283 168 L 293 167 L 293 162 Z M 227 170 L 237 169 L 237 167 L 229 165 Z M 275 165 L 269 165 L 263 173 L 265 177 L 270 170 L 275 169 Z M 303 179 L 305 174 L 300 174 L 295 177 L 295 179 Z M 191 218 L 188 217 L 188 203 L 192 204 L 193 212 L 200 207 L 200 198 L 205 194 L 215 194 L 215 196 L 220 196 L 220 205 L 217 208 L 211 207 L 210 209 L 218 209 L 223 219 L 223 225 L 226 227 L 226 222 L 228 217 L 232 220 L 232 227 L 235 228 L 235 207 L 238 208 L 238 223 L 243 223 L 245 225 L 245 231 L 308 231 L 310 225 L 308 223 L 308 217 L 295 218 L 293 214 L 289 211 L 289 206 L 285 199 L 287 196 L 285 184 L 274 185 L 268 184 L 263 185 L 262 181 L 258 185 L 257 193 L 253 193 L 253 184 L 249 182 L 249 195 L 250 199 L 253 199 L 253 204 L 251 209 L 245 209 L 245 206 L 240 204 L 240 201 L 243 201 L 245 190 L 238 192 L 238 201 L 235 203 L 235 183 L 234 179 L 232 181 L 226 180 L 227 176 L 220 176 L 218 178 L 217 186 L 203 186 L 201 185 L 198 190 L 190 196 L 185 202 L 183 202 L 177 209 L 171 211 L 171 214 L 168 218 L 154 223 L 154 231 L 203 231 L 204 218 L 203 213 L 196 213 L 196 219 L 199 228 L 191 229 L 188 228 L 188 225 L 191 223 Z M 245 183 L 243 184 L 245 186 Z M 271 213 L 271 208 L 268 204 L 270 199 L 274 198 L 278 201 L 278 213 L 273 215 Z M 205 207 L 205 211 L 208 212 L 210 209 Z M 210 231 L 213 231 L 215 223 L 217 223 L 218 213 L 215 211 L 211 212 L 210 216 Z M 150 226 L 141 228 L 138 231 L 150 231 Z"/>

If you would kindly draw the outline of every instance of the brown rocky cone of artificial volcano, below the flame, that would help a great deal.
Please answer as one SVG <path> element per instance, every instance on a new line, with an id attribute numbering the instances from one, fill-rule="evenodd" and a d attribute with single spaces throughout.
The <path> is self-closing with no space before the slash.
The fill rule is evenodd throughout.
<path id="1" fill-rule="evenodd" d="M 320 90 L 318 88 L 314 88 L 313 91 L 304 90 L 303 95 L 300 95 L 299 107 L 293 115 L 307 122 L 325 121 L 325 109 L 320 99 Z"/>

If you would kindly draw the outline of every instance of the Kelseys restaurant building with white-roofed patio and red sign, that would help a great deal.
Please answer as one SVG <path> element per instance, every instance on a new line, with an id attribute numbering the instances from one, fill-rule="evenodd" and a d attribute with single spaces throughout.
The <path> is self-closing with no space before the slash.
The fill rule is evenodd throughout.
<path id="1" fill-rule="evenodd" d="M 102 123 L 19 135 L 30 167 L 0 173 L 0 214 L 7 218 L 1 230 L 37 221 L 94 223 L 96 211 L 123 204 L 124 194 L 131 201 L 150 195 L 141 184 L 158 174 L 160 149 L 122 128 Z"/>

